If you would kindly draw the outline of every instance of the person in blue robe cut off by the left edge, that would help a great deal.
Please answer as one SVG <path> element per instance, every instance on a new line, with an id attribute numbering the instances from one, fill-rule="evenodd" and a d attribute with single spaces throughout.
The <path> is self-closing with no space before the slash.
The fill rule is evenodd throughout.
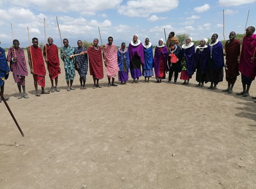
<path id="1" fill-rule="evenodd" d="M 6 60 L 5 50 L 0 47 L 0 89 L 3 95 L 4 95 L 4 89 L 5 89 L 5 80 L 8 79 L 9 71 L 10 69 Z M 5 98 L 5 100 L 8 100 L 8 99 L 9 98 Z M 0 102 L 2 102 L 2 100 L 3 99 L 0 98 Z"/>

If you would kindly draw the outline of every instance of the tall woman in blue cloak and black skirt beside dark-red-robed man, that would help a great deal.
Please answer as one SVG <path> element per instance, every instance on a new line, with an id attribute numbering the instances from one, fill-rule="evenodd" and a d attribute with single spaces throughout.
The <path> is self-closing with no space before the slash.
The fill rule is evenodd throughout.
<path id="1" fill-rule="evenodd" d="M 223 81 L 223 67 L 224 56 L 223 46 L 218 40 L 218 34 L 211 36 L 211 42 L 209 42 L 209 57 L 206 64 L 205 83 L 210 82 L 208 89 L 217 89 L 219 82 Z"/>

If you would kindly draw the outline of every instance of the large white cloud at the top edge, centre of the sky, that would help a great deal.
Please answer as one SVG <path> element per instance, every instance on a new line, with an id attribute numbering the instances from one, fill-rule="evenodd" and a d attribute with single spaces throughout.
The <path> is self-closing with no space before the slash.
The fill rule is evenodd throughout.
<path id="1" fill-rule="evenodd" d="M 151 13 L 166 12 L 177 8 L 178 0 L 129 0 L 118 7 L 118 13 L 126 16 L 147 17 Z"/>

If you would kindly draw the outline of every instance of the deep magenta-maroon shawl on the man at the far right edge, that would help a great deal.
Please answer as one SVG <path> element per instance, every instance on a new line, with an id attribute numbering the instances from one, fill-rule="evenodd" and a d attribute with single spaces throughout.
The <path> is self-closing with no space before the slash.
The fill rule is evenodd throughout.
<path id="1" fill-rule="evenodd" d="M 256 76 L 256 60 L 251 60 L 256 48 L 256 34 L 253 34 L 251 37 L 244 36 L 240 63 L 239 63 L 239 72 L 244 74 L 247 78 L 254 79 Z M 256 53 L 254 54 L 256 57 Z"/>

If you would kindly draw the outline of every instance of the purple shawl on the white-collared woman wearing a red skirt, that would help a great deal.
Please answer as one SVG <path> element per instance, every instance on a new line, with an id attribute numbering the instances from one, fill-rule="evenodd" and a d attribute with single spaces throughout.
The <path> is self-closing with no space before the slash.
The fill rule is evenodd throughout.
<path id="1" fill-rule="evenodd" d="M 160 51 L 159 49 L 162 49 L 162 51 Z M 167 48 L 166 46 L 163 46 L 162 48 L 159 48 L 158 46 L 156 46 L 155 56 L 154 56 L 154 69 L 155 69 L 156 76 L 159 76 L 159 73 L 160 73 L 160 60 L 162 55 L 163 55 L 165 70 L 168 71 L 168 69 L 166 69 L 167 59 L 168 59 Z"/>

